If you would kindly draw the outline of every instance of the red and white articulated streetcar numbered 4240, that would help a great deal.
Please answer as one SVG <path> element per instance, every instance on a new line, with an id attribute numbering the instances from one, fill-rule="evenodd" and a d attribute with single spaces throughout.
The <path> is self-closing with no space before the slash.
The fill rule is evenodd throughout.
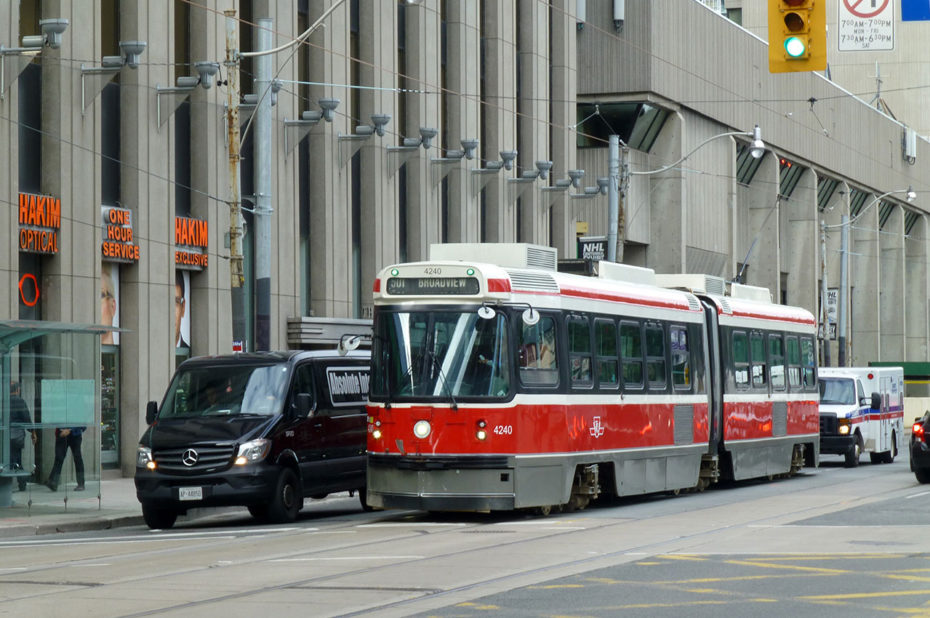
<path id="1" fill-rule="evenodd" d="M 534 245 L 431 258 L 374 284 L 371 506 L 546 513 L 817 465 L 808 311 Z"/>

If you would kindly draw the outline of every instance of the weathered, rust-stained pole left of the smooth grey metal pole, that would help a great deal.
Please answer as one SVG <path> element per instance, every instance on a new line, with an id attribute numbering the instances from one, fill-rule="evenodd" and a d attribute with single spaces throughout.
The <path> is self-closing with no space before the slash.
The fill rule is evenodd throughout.
<path id="1" fill-rule="evenodd" d="M 245 333 L 245 271 L 239 186 L 239 36 L 236 11 L 226 10 L 226 139 L 229 142 L 229 276 L 233 349 L 248 350 Z"/>

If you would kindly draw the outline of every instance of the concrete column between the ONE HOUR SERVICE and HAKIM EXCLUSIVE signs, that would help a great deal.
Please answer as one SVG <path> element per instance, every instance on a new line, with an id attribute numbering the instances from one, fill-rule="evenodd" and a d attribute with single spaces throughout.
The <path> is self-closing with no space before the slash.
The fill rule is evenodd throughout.
<path id="1" fill-rule="evenodd" d="M 120 355 L 132 359 L 121 369 L 120 460 L 130 476 L 145 428 L 139 402 L 161 399 L 174 368 L 173 124 L 156 130 L 149 88 L 172 83 L 174 5 L 121 2 L 119 11 L 120 40 L 149 42 L 139 68 L 120 73 L 120 203 L 132 210 L 140 249 L 139 262 L 123 266 L 120 276 L 120 325 L 126 329 Z"/>

